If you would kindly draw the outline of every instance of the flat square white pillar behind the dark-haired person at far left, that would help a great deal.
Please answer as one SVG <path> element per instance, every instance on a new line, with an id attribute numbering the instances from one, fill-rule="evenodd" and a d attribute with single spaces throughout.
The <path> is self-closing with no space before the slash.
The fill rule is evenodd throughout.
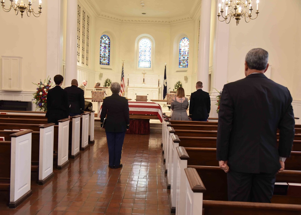
<path id="1" fill-rule="evenodd" d="M 46 78 L 63 74 L 63 0 L 47 1 Z"/>

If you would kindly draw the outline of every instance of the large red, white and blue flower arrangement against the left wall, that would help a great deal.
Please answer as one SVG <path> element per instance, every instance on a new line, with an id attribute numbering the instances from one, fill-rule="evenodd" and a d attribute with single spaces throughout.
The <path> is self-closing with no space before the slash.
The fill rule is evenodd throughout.
<path id="1" fill-rule="evenodd" d="M 51 88 L 51 78 L 44 80 L 44 83 L 40 79 L 40 83 L 33 83 L 37 87 L 37 92 L 33 93 L 33 103 L 36 104 L 36 110 L 39 109 L 40 111 L 47 111 L 47 93 L 48 90 Z"/>

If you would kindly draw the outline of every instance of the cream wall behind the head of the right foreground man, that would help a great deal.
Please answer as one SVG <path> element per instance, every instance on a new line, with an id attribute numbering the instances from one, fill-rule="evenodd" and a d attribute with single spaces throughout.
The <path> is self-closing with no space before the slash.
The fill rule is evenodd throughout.
<path id="1" fill-rule="evenodd" d="M 252 48 L 269 52 L 271 79 L 287 86 L 294 100 L 300 100 L 300 1 L 265 0 L 259 15 L 250 23 L 231 20 L 228 50 L 228 80 L 244 78 L 244 58 Z M 299 18 L 299 19 L 298 19 Z M 293 87 L 293 85 L 295 85 Z"/>

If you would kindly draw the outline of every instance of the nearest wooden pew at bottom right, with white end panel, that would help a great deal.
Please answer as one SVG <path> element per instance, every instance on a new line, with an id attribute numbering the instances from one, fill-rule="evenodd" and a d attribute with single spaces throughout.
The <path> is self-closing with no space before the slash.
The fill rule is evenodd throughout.
<path id="1" fill-rule="evenodd" d="M 299 204 L 205 200 L 205 194 L 208 191 L 210 192 L 210 188 L 201 180 L 197 171 L 194 168 L 185 168 L 185 178 L 186 189 L 183 194 L 185 199 L 184 202 L 181 202 L 180 207 L 185 210 L 182 210 L 182 213 L 176 211 L 176 215 L 199 215 L 201 214 L 200 211 L 204 215 L 296 215 L 300 214 L 301 211 L 301 205 Z"/>

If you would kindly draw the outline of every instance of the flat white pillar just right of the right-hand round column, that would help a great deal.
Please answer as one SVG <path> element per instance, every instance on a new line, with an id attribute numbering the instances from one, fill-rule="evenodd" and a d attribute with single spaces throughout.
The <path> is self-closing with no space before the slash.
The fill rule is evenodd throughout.
<path id="1" fill-rule="evenodd" d="M 218 13 L 218 1 L 216 0 L 216 14 Z M 227 83 L 228 70 L 228 45 L 229 45 L 229 25 L 216 19 L 214 50 L 213 50 L 213 71 L 211 75 L 212 91 L 210 95 L 217 95 Z"/>

